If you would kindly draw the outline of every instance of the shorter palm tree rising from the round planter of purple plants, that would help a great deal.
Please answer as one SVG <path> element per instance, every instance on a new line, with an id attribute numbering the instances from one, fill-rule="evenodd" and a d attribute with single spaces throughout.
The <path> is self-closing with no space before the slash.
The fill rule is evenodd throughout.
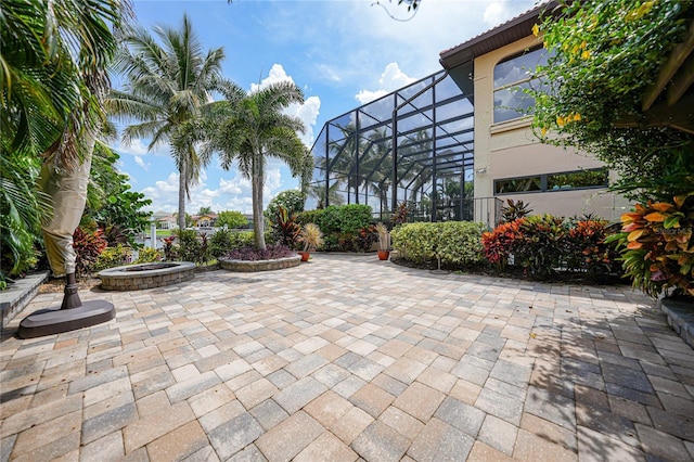
<path id="1" fill-rule="evenodd" d="M 257 249 L 265 249 L 262 187 L 268 158 L 283 161 L 292 175 L 306 180 L 312 158 L 296 134 L 305 130 L 295 116 L 282 114 L 292 103 L 304 102 L 304 93 L 293 82 L 278 82 L 248 93 L 240 101 L 228 101 L 217 107 L 216 127 L 204 152 L 219 152 L 221 166 L 229 170 L 235 163 L 239 171 L 250 180 L 253 190 L 253 230 Z"/>

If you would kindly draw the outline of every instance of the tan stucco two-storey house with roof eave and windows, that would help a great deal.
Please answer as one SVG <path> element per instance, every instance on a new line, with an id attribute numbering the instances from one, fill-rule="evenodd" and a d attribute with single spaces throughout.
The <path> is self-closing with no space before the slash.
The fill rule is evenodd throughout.
<path id="1" fill-rule="evenodd" d="M 534 214 L 617 220 L 628 203 L 607 190 L 614 174 L 590 154 L 541 143 L 531 116 L 523 113 L 532 100 L 516 89 L 541 85 L 532 69 L 547 60 L 532 26 L 551 7 L 538 7 L 440 53 L 451 73 L 473 62 L 474 195 L 520 200 Z"/>

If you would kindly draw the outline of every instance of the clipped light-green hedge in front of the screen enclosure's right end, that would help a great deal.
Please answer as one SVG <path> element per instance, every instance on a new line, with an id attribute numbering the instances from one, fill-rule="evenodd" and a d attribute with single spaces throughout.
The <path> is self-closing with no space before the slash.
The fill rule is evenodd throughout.
<path id="1" fill-rule="evenodd" d="M 445 265 L 475 265 L 481 260 L 483 223 L 446 221 L 441 223 L 406 223 L 390 231 L 393 248 L 417 264 L 436 261 Z"/>

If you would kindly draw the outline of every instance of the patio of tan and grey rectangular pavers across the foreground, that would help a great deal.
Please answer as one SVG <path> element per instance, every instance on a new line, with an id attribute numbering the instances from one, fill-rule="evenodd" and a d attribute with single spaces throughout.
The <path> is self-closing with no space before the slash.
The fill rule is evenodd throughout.
<path id="1" fill-rule="evenodd" d="M 692 349 L 630 287 L 317 255 L 80 295 L 116 319 L 2 338 L 1 461 L 694 459 Z"/>

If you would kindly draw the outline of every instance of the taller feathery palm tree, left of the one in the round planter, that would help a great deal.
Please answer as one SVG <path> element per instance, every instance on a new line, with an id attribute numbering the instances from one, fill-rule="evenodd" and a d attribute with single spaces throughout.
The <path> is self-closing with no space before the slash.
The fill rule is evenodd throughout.
<path id="1" fill-rule="evenodd" d="M 123 91 L 112 92 L 106 107 L 125 121 L 139 120 L 126 127 L 125 142 L 151 138 L 149 150 L 169 145 L 179 171 L 179 227 L 185 228 L 185 198 L 208 161 L 196 151 L 190 123 L 211 104 L 213 92 L 235 90 L 221 77 L 223 49 L 205 54 L 188 15 L 179 29 L 155 27 L 154 33 L 160 43 L 143 28 L 126 37 L 129 48 L 117 68 L 127 84 Z"/>

